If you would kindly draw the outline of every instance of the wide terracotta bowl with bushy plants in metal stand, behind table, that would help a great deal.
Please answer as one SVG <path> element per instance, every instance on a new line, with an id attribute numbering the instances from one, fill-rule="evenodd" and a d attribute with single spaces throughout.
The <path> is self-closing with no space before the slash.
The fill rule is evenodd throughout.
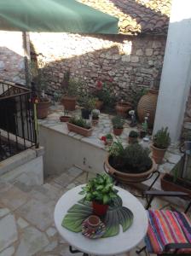
<path id="1" fill-rule="evenodd" d="M 110 175 L 122 183 L 142 182 L 154 171 L 154 161 L 149 149 L 135 143 L 125 147 L 119 141 L 113 142 L 105 160 Z"/>

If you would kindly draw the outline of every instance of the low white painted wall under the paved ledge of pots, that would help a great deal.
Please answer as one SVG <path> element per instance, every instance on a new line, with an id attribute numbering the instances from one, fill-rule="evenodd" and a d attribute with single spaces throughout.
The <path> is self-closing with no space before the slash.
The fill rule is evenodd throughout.
<path id="1" fill-rule="evenodd" d="M 87 172 L 103 172 L 103 163 L 107 155 L 105 150 L 43 125 L 40 125 L 39 138 L 40 145 L 45 149 L 44 176 L 60 174 L 73 165 Z"/>

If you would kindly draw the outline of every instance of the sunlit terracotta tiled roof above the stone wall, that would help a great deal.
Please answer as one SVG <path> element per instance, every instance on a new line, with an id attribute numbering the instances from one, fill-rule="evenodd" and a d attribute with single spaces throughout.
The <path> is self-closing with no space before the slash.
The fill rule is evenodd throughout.
<path id="1" fill-rule="evenodd" d="M 167 33 L 171 0 L 78 0 L 119 18 L 119 33 Z"/>

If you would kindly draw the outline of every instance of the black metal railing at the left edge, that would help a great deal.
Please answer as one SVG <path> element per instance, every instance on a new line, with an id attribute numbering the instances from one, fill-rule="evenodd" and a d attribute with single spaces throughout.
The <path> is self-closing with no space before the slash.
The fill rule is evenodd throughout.
<path id="1" fill-rule="evenodd" d="M 32 91 L 0 80 L 0 161 L 38 145 Z"/>

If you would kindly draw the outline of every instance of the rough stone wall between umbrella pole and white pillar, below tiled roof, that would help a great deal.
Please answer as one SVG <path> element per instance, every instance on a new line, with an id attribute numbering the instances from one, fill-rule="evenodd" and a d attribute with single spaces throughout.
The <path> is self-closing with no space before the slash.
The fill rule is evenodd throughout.
<path id="1" fill-rule="evenodd" d="M 165 37 L 100 36 L 69 33 L 30 33 L 33 52 L 43 67 L 50 93 L 59 91 L 64 73 L 94 87 L 113 80 L 116 96 L 131 99 L 132 91 L 153 86 L 163 65 Z"/>

